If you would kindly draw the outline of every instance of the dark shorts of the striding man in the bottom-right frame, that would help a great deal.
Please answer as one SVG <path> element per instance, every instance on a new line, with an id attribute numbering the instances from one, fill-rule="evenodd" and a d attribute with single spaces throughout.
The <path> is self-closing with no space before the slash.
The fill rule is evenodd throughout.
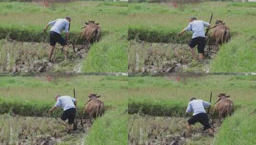
<path id="1" fill-rule="evenodd" d="M 211 128 L 211 126 L 209 124 L 209 119 L 208 119 L 208 116 L 206 113 L 200 113 L 200 114 L 193 115 L 188 120 L 188 123 L 191 125 L 195 124 L 197 122 L 200 122 L 200 124 L 202 124 L 204 126 L 203 127 L 204 130 Z"/>

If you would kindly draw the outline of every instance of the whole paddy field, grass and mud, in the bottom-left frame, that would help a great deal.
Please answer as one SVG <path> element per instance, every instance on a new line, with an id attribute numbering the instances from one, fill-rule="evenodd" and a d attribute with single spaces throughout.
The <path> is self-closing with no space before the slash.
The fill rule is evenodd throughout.
<path id="1" fill-rule="evenodd" d="M 43 74 L 0 77 L 0 106 L 4 108 L 0 110 L 1 145 L 127 144 L 127 77 L 56 73 L 47 77 Z M 82 112 L 90 93 L 101 95 L 106 111 L 92 125 L 78 125 L 76 133 L 69 135 L 57 119 L 61 109 L 53 115 L 48 111 L 55 104 L 56 94 L 74 97 L 73 88 L 78 111 Z"/>

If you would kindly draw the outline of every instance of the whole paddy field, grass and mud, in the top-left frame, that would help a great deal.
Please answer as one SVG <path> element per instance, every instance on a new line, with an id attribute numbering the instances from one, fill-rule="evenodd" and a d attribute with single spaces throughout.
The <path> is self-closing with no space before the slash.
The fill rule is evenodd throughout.
<path id="1" fill-rule="evenodd" d="M 76 47 L 81 48 L 80 44 L 85 42 L 80 38 L 80 31 L 86 21 L 100 23 L 101 41 L 93 44 L 86 54 L 74 53 L 72 47 L 69 47 L 69 59 L 65 64 L 59 64 L 63 62 L 64 55 L 60 51 L 62 47 L 57 45 L 53 55 L 56 63 L 53 65 L 57 64 L 63 69 L 54 67 L 55 69 L 44 72 L 127 72 L 128 4 L 111 1 L 48 2 L 47 6 L 41 1 L 0 2 L 0 19 L 2 20 L 0 39 L 3 39 L 0 43 L 1 72 L 13 72 L 15 66 L 24 68 L 20 66 L 22 63 L 33 67 L 37 65 L 35 61 L 42 63 L 44 63 L 43 60 L 48 61 L 49 34 L 44 33 L 43 28 L 49 21 L 67 16 L 72 19 L 70 41 L 75 42 Z M 24 43 L 25 47 L 16 45 L 17 43 L 21 45 Z M 39 48 L 39 50 L 33 50 L 33 48 Z M 30 52 L 31 50 L 33 51 Z M 21 55 L 30 58 L 31 55 L 28 53 L 33 53 L 36 59 L 23 59 L 24 62 L 19 62 L 19 59 L 22 59 Z M 18 73 L 40 72 L 27 68 L 15 71 Z"/>

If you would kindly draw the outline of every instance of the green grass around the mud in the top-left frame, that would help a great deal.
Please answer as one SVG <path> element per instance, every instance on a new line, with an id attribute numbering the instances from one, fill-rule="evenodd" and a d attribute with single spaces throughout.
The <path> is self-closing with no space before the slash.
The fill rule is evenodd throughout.
<path id="1" fill-rule="evenodd" d="M 73 41 L 78 40 L 85 21 L 95 20 L 100 23 L 102 42 L 91 47 L 93 51 L 89 52 L 86 60 L 93 62 L 83 62 L 86 63 L 83 66 L 85 72 L 127 72 L 127 42 L 123 38 L 127 35 L 129 23 L 127 2 L 56 2 L 49 3 L 48 8 L 37 2 L 1 2 L 0 38 L 40 42 L 45 39 L 42 31 L 45 25 L 66 16 L 72 19 L 70 39 Z M 48 35 L 46 41 L 47 38 Z M 82 43 L 80 39 L 78 43 Z M 103 45 L 107 45 L 107 49 L 102 50 Z M 100 58 L 101 51 L 104 51 L 104 58 Z M 99 59 L 95 60 L 97 57 Z"/>

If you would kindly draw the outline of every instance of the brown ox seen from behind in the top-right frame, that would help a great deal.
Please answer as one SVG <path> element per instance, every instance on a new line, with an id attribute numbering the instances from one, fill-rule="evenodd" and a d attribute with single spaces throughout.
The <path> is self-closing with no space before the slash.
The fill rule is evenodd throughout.
<path id="1" fill-rule="evenodd" d="M 219 44 L 223 44 L 223 42 L 228 42 L 230 39 L 230 29 L 229 27 L 225 26 L 225 23 L 221 20 L 217 20 L 215 22 L 215 29 L 212 33 L 212 37 L 215 39 L 215 45 L 217 48 Z"/>

